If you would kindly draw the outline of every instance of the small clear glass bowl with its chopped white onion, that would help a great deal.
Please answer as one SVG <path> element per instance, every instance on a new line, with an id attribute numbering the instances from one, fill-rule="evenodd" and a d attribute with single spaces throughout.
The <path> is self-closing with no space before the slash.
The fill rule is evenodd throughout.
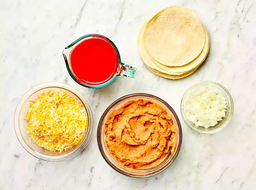
<path id="1" fill-rule="evenodd" d="M 188 88 L 181 100 L 181 115 L 194 131 L 213 134 L 224 129 L 233 115 L 233 99 L 217 82 L 203 81 Z"/>

